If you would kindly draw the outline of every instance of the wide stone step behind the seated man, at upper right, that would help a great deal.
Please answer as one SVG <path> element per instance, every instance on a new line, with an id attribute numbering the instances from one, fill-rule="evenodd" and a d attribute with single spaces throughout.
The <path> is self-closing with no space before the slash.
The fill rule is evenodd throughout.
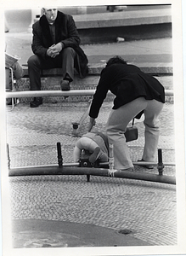
<path id="1" fill-rule="evenodd" d="M 111 43 L 118 37 L 126 41 L 172 37 L 171 6 L 73 15 L 73 18 L 82 44 Z"/>

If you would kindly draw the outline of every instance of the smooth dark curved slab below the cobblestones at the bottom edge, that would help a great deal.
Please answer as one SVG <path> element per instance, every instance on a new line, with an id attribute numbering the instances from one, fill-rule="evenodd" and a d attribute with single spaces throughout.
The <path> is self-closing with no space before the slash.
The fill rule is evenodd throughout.
<path id="1" fill-rule="evenodd" d="M 94 224 L 40 219 L 12 220 L 13 247 L 150 246 L 135 238 L 136 230 L 114 230 Z"/>

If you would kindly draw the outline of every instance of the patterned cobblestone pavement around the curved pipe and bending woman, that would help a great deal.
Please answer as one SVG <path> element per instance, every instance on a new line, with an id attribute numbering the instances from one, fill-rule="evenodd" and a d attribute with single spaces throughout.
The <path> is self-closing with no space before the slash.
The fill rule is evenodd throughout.
<path id="1" fill-rule="evenodd" d="M 105 102 L 94 130 L 104 131 L 111 103 Z M 72 135 L 87 103 L 43 104 L 29 108 L 20 104 L 7 111 L 7 140 L 11 167 L 57 163 L 56 143 L 62 144 L 64 162 L 72 162 L 77 137 Z M 174 161 L 174 105 L 166 103 L 161 113 L 163 161 Z M 128 143 L 132 160 L 141 158 L 144 125 L 136 123 L 139 137 Z M 87 119 L 80 136 L 87 132 Z M 166 166 L 164 175 L 175 176 L 175 167 Z M 136 167 L 136 172 L 158 173 Z M 114 230 L 132 230 L 128 236 L 151 245 L 177 244 L 176 187 L 110 177 L 33 176 L 9 177 L 13 219 L 40 219 L 93 224 Z"/>

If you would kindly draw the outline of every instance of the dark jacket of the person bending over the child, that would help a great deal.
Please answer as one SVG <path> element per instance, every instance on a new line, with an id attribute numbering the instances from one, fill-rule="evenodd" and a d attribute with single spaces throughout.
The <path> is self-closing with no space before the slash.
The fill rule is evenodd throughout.
<path id="1" fill-rule="evenodd" d="M 102 70 L 99 84 L 93 96 L 89 112 L 90 117 L 98 117 L 99 109 L 104 102 L 108 90 L 116 96 L 113 109 L 120 108 L 138 97 L 165 102 L 164 87 L 157 79 L 143 73 L 134 65 L 117 63 Z"/>

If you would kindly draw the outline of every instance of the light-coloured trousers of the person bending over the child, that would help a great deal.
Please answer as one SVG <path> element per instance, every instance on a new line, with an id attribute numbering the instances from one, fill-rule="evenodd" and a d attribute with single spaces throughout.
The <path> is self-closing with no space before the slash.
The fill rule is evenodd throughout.
<path id="1" fill-rule="evenodd" d="M 145 161 L 155 161 L 160 133 L 159 114 L 163 108 L 162 102 L 147 101 L 140 97 L 121 108 L 112 109 L 107 121 L 107 136 L 109 143 L 114 147 L 114 167 L 125 170 L 133 167 L 129 149 L 124 135 L 128 123 L 142 110 L 144 110 L 144 154 Z"/>

